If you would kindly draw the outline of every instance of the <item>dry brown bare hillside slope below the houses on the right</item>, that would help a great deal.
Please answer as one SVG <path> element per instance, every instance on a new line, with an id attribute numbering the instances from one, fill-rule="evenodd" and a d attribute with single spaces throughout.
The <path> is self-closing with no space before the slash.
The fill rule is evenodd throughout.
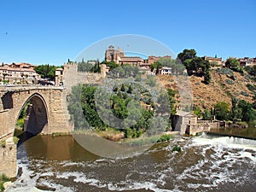
<path id="1" fill-rule="evenodd" d="M 189 76 L 195 106 L 203 110 L 205 108 L 211 109 L 217 102 L 231 104 L 230 96 L 253 102 L 253 93 L 248 90 L 247 84 L 256 84 L 247 78 L 246 73 L 242 76 L 240 73 L 225 71 L 225 69 L 212 69 L 211 76 L 210 84 L 202 83 L 203 78 L 201 77 Z M 160 75 L 158 78 L 166 89 L 177 90 L 177 84 L 173 76 Z M 180 87 L 183 87 L 183 85 L 180 85 Z"/>

